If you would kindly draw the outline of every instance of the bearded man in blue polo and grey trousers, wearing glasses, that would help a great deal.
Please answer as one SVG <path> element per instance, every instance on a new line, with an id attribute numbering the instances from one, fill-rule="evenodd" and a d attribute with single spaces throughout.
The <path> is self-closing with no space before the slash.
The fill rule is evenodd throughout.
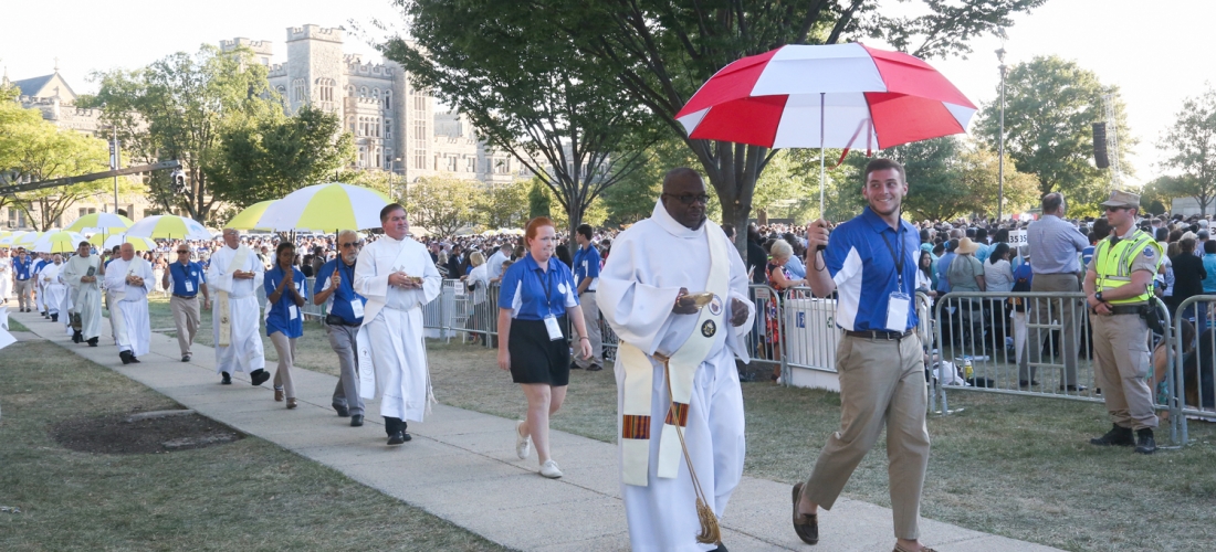
<path id="1" fill-rule="evenodd" d="M 355 338 L 364 325 L 367 297 L 355 292 L 355 262 L 359 261 L 359 234 L 338 234 L 338 257 L 321 266 L 313 288 L 313 305 L 330 302 L 325 317 L 330 347 L 338 354 L 342 375 L 333 388 L 333 409 L 338 417 L 350 416 L 350 426 L 364 425 L 364 399 L 359 397 L 359 357 Z"/>

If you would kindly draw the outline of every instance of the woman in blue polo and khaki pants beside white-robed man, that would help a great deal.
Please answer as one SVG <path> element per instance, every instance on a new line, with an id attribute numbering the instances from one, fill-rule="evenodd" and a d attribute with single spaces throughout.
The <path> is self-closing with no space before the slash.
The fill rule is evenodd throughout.
<path id="1" fill-rule="evenodd" d="M 295 386 L 292 383 L 292 362 L 295 359 L 295 338 L 304 335 L 304 315 L 300 307 L 308 295 L 304 273 L 292 262 L 295 260 L 295 246 L 289 241 L 278 244 L 275 250 L 277 262 L 266 271 L 263 286 L 266 289 L 266 335 L 278 353 L 278 369 L 275 371 L 275 400 L 287 395 L 287 408 L 295 408 Z"/>

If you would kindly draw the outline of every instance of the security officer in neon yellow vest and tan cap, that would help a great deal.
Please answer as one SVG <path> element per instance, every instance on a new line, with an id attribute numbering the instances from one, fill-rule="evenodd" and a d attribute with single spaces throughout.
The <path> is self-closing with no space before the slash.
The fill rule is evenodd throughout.
<path id="1" fill-rule="evenodd" d="M 1136 227 L 1139 195 L 1116 189 L 1102 206 L 1114 231 L 1098 243 L 1086 267 L 1085 295 L 1093 323 L 1094 375 L 1114 427 L 1090 443 L 1135 445 L 1139 454 L 1153 454 L 1158 420 L 1144 381 L 1150 366 L 1149 326 L 1142 317 L 1155 317 L 1149 300 L 1162 250 Z"/>

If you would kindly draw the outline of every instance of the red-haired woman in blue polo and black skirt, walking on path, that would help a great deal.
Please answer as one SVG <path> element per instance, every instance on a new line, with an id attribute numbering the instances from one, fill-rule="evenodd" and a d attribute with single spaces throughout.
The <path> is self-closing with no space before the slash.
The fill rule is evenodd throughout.
<path id="1" fill-rule="evenodd" d="M 591 357 L 586 323 L 570 267 L 553 256 L 553 221 L 536 217 L 524 233 L 528 254 L 502 274 L 499 294 L 499 368 L 511 370 L 528 397 L 528 419 L 516 423 L 516 454 L 527 459 L 536 444 L 540 474 L 562 477 L 548 451 L 548 417 L 562 408 L 570 380 L 569 321 L 579 352 Z"/>

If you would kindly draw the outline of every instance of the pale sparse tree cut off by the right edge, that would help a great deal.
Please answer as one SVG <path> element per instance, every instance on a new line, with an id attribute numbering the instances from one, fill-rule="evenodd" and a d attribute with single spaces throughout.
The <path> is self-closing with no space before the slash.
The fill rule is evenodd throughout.
<path id="1" fill-rule="evenodd" d="M 1195 198 L 1200 215 L 1207 216 L 1207 204 L 1216 199 L 1216 90 L 1209 86 L 1187 98 L 1176 118 L 1158 148 L 1170 155 L 1162 167 L 1177 175 L 1160 182 L 1175 198 Z"/>

